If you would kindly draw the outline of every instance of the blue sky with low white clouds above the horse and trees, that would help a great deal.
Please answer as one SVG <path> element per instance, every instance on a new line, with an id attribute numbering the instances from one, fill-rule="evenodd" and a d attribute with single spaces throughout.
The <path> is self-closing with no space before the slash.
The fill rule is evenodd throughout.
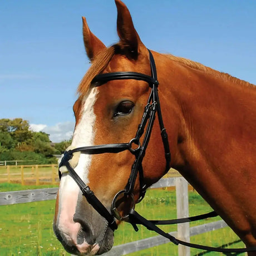
<path id="1" fill-rule="evenodd" d="M 142 42 L 256 84 L 256 1 L 126 0 Z M 82 19 L 117 42 L 114 0 L 0 2 L 0 119 L 22 117 L 69 139 L 76 88 L 90 63 Z"/>

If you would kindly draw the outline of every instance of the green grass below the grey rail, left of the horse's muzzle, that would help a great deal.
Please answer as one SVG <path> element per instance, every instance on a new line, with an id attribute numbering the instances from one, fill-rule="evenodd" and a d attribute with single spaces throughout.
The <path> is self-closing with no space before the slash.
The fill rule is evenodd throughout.
<path id="1" fill-rule="evenodd" d="M 52 230 L 55 202 L 1 206 L 0 255 L 69 255 Z"/>

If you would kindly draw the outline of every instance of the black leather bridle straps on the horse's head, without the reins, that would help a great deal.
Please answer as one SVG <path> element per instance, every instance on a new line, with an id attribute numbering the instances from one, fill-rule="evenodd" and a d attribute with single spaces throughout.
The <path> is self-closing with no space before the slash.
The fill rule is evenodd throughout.
<path id="1" fill-rule="evenodd" d="M 141 122 L 138 126 L 136 135 L 133 139 L 130 140 L 128 143 L 121 143 L 121 144 L 104 144 L 104 145 L 96 145 L 96 146 L 85 146 L 85 147 L 77 147 L 76 149 L 68 150 L 64 152 L 64 155 L 61 159 L 61 166 L 66 166 L 67 170 L 70 172 L 72 178 L 76 181 L 77 185 L 82 191 L 82 194 L 87 199 L 88 203 L 93 206 L 93 208 L 102 215 L 109 223 L 109 227 L 112 230 L 117 229 L 116 219 L 122 220 L 124 218 L 127 219 L 128 216 L 121 216 L 119 211 L 116 208 L 116 200 L 121 195 L 124 194 L 125 197 L 131 198 L 132 200 L 132 208 L 134 208 L 134 196 L 132 191 L 134 190 L 135 182 L 137 179 L 137 174 L 139 173 L 139 181 L 140 181 L 140 196 L 139 200 L 136 203 L 139 203 L 145 196 L 146 193 L 146 184 L 144 184 L 144 175 L 142 169 L 142 160 L 145 156 L 145 152 L 147 149 L 147 145 L 149 144 L 149 139 L 152 131 L 152 127 L 154 125 L 155 115 L 157 112 L 157 117 L 160 125 L 161 137 L 164 144 L 165 150 L 165 159 L 166 159 L 166 169 L 167 172 L 170 169 L 170 149 L 169 149 L 169 142 L 168 142 L 168 135 L 166 133 L 163 117 L 161 114 L 160 108 L 160 101 L 159 95 L 157 91 L 157 87 L 159 82 L 157 81 L 157 74 L 156 74 L 156 66 L 154 57 L 152 53 L 149 51 L 149 60 L 150 60 L 150 68 L 151 68 L 151 76 L 145 75 L 143 73 L 137 72 L 112 72 L 112 73 L 104 73 L 95 76 L 93 78 L 92 83 L 95 83 L 96 86 L 104 85 L 104 83 L 112 81 L 112 80 L 140 80 L 145 81 L 149 84 L 151 88 L 151 92 L 149 95 L 149 99 L 147 100 L 147 104 L 144 109 L 144 113 L 142 115 Z M 142 143 L 140 142 L 141 136 L 145 135 Z M 99 199 L 94 195 L 93 191 L 86 185 L 80 176 L 77 175 L 76 171 L 72 168 L 70 163 L 68 162 L 72 159 L 73 153 L 81 152 L 83 154 L 103 154 L 103 153 L 118 153 L 125 150 L 129 150 L 131 154 L 135 155 L 134 164 L 131 167 L 131 174 L 127 181 L 127 184 L 124 190 L 119 191 L 112 200 L 111 204 L 111 213 L 106 207 L 101 203 Z M 61 172 L 59 170 L 59 175 L 61 178 Z"/>

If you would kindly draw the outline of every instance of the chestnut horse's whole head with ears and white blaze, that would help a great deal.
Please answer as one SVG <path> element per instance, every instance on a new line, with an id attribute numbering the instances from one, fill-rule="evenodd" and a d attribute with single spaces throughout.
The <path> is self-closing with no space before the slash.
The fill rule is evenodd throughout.
<path id="1" fill-rule="evenodd" d="M 142 196 L 140 175 L 137 173 L 130 188 L 132 191 L 128 194 L 127 190 L 124 190 L 130 178 L 131 166 L 137 157 L 135 151 L 142 147 L 140 141 L 143 141 L 145 136 L 150 136 L 143 165 L 139 166 L 139 169 L 143 166 L 144 190 L 165 174 L 166 149 L 161 142 L 161 124 L 158 122 L 155 122 L 147 135 L 141 132 L 139 139 L 131 140 L 135 138 L 138 124 L 141 123 L 142 116 L 146 115 L 145 106 L 149 105 L 148 99 L 152 97 L 152 88 L 147 82 L 147 79 L 151 79 L 152 71 L 149 51 L 134 28 L 129 10 L 119 0 L 116 0 L 116 6 L 117 33 L 120 41 L 109 48 L 93 35 L 86 19 L 83 18 L 83 40 L 92 65 L 78 87 L 79 96 L 73 106 L 76 117 L 75 131 L 67 151 L 72 152 L 68 159 L 71 168 L 83 183 L 90 187 L 90 191 L 93 191 L 104 208 L 110 211 L 112 200 L 115 198 L 114 206 L 120 215 L 116 221 L 119 224 Z M 146 78 L 143 81 L 144 77 L 122 77 L 121 80 L 109 79 L 102 82 L 100 76 L 97 76 L 99 73 L 124 71 L 139 73 L 137 76 L 143 74 Z M 159 115 L 159 112 L 156 115 Z M 145 125 L 148 122 L 150 121 L 146 120 Z M 88 153 L 88 146 L 113 145 L 120 142 L 127 145 L 128 150 L 117 150 L 117 154 L 111 154 L 108 150 L 105 154 L 97 154 L 93 150 L 93 154 Z M 81 147 L 86 147 L 87 154 L 83 150 L 73 150 Z M 167 159 L 169 162 L 169 158 Z M 167 165 L 169 166 L 169 163 Z M 62 178 L 53 224 L 57 238 L 68 252 L 78 255 L 102 254 L 110 250 L 114 234 L 106 218 L 83 197 L 65 165 L 60 167 L 60 172 Z M 123 190 L 124 193 L 119 193 Z"/>

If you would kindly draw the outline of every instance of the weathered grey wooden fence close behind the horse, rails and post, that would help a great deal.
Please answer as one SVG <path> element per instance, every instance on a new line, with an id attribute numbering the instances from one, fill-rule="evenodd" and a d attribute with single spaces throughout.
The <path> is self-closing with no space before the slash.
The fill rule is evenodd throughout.
<path id="1" fill-rule="evenodd" d="M 176 208 L 177 218 L 184 218 L 189 216 L 189 201 L 188 201 L 188 183 L 182 177 L 164 178 L 159 180 L 151 188 L 165 188 L 175 186 L 176 187 Z M 50 189 L 35 189 L 35 190 L 23 190 L 23 191 L 11 191 L 0 193 L 0 205 L 28 203 L 33 201 L 53 200 L 56 199 L 57 188 Z M 214 221 L 211 223 L 198 225 L 196 227 L 189 228 L 189 223 L 178 224 L 177 232 L 171 232 L 171 235 L 189 242 L 190 237 L 205 232 L 210 232 L 216 229 L 227 227 L 227 224 L 223 220 Z M 121 244 L 113 247 L 110 252 L 105 253 L 105 256 L 119 256 L 128 253 L 138 252 L 139 250 L 148 249 L 157 245 L 169 243 L 169 239 L 157 235 L 155 237 L 137 240 L 135 242 Z M 180 256 L 189 256 L 190 248 L 179 246 Z"/>

